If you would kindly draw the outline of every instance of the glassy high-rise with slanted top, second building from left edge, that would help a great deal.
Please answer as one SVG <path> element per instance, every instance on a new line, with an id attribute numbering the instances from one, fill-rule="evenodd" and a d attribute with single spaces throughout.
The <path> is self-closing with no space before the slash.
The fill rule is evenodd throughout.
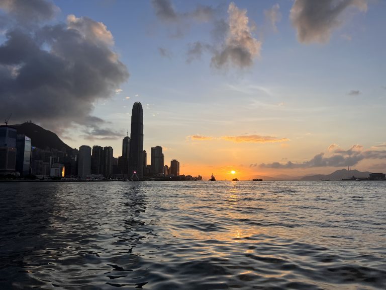
<path id="1" fill-rule="evenodd" d="M 16 171 L 21 176 L 30 174 L 31 165 L 31 139 L 24 134 L 16 137 Z"/>

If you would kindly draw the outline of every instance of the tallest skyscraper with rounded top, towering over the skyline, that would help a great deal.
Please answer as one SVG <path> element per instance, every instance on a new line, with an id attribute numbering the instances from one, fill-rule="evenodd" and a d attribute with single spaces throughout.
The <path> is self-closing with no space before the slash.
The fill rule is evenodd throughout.
<path id="1" fill-rule="evenodd" d="M 143 111 L 140 102 L 135 102 L 131 113 L 129 176 L 134 172 L 143 177 Z"/>

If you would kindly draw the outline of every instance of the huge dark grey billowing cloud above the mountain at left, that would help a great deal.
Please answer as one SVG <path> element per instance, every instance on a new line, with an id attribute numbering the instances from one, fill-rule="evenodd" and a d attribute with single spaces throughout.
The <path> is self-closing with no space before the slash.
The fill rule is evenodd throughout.
<path id="1" fill-rule="evenodd" d="M 21 11 L 32 9 L 29 1 L 11 2 Z M 31 14 L 51 16 L 39 9 Z M 115 95 L 129 73 L 103 23 L 69 15 L 66 23 L 54 25 L 25 29 L 14 24 L 5 38 L 0 43 L 0 99 L 15 122 L 31 119 L 57 131 L 74 123 L 106 123 L 91 115 L 94 104 Z"/>

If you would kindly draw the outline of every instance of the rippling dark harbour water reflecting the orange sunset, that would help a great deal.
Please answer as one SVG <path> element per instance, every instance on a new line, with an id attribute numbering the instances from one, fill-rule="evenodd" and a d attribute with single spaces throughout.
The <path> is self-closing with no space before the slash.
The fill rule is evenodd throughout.
<path id="1" fill-rule="evenodd" d="M 0 289 L 385 289 L 386 182 L 0 184 Z"/>

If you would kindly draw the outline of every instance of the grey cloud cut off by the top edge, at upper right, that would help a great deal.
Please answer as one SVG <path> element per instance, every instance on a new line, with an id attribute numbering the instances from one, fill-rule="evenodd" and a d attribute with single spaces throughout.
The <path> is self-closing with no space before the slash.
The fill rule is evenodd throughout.
<path id="1" fill-rule="evenodd" d="M 348 8 L 367 11 L 367 0 L 295 0 L 289 18 L 302 43 L 326 43 L 333 29 L 342 25 L 342 13 Z"/>

